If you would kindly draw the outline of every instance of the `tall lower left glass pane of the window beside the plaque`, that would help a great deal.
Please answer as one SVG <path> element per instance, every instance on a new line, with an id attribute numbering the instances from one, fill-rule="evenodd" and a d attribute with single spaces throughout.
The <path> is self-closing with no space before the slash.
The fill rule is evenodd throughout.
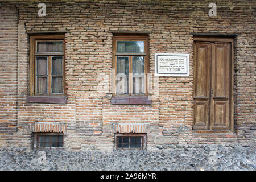
<path id="1" fill-rule="evenodd" d="M 128 93 L 129 85 L 129 57 L 117 56 L 117 93 Z"/>

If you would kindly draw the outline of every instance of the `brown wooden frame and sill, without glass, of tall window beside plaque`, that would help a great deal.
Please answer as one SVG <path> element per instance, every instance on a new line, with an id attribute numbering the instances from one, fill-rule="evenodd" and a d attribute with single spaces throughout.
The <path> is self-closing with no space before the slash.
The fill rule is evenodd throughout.
<path id="1" fill-rule="evenodd" d="M 144 52 L 143 53 L 119 53 L 117 52 L 117 41 L 143 41 L 144 42 Z M 116 78 L 117 75 L 117 56 L 129 57 L 129 93 L 127 94 L 117 94 L 116 92 Z M 145 84 L 143 94 L 133 93 L 133 78 L 130 73 L 133 72 L 133 56 L 144 56 L 144 74 L 145 74 Z M 148 73 L 150 73 L 149 65 L 149 36 L 141 34 L 117 34 L 113 35 L 113 54 L 112 54 L 112 65 L 114 69 L 114 79 L 112 80 L 112 104 L 151 104 L 151 100 L 148 98 Z"/>

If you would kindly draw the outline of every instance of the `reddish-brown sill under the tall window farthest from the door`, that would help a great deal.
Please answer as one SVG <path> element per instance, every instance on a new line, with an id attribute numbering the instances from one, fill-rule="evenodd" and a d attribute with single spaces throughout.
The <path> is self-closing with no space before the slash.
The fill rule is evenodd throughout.
<path id="1" fill-rule="evenodd" d="M 49 103 L 49 104 L 66 104 L 66 96 L 28 96 L 27 102 Z"/>

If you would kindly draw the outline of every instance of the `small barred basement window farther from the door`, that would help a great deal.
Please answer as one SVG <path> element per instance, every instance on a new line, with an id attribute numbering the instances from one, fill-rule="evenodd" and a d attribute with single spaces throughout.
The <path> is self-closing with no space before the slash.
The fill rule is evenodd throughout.
<path id="1" fill-rule="evenodd" d="M 63 135 L 36 135 L 36 148 L 63 148 Z"/>

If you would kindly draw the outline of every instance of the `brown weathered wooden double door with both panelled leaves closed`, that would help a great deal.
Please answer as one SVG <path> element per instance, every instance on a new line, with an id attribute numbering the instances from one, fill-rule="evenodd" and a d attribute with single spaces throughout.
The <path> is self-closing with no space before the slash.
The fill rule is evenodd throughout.
<path id="1" fill-rule="evenodd" d="M 231 44 L 195 41 L 194 130 L 229 130 Z"/>

